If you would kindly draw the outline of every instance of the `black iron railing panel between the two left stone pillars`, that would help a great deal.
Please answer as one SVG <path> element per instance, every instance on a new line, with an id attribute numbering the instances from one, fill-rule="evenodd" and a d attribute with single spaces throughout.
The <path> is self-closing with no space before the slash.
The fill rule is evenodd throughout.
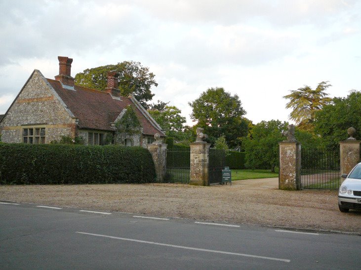
<path id="1" fill-rule="evenodd" d="M 189 184 L 191 170 L 191 149 L 167 149 L 164 181 Z"/>

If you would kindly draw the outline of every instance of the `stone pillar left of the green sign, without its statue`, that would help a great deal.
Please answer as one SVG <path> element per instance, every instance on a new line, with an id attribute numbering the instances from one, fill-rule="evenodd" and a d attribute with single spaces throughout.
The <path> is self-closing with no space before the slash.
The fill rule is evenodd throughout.
<path id="1" fill-rule="evenodd" d="M 205 141 L 191 143 L 190 185 L 208 186 L 208 153 L 210 144 Z"/>

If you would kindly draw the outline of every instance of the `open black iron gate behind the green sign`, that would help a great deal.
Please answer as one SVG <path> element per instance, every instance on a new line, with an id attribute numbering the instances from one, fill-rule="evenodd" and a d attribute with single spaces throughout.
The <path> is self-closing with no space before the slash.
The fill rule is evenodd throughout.
<path id="1" fill-rule="evenodd" d="M 208 185 L 222 181 L 222 169 L 226 163 L 226 152 L 223 149 L 209 149 Z"/>

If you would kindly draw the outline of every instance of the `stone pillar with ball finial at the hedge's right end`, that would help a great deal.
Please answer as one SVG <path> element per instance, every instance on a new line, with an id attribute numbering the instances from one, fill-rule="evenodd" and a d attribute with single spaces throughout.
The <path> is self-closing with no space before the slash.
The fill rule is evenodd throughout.
<path id="1" fill-rule="evenodd" d="M 163 182 L 165 175 L 167 145 L 160 141 L 160 135 L 158 133 L 154 135 L 154 138 L 156 140 L 152 144 L 147 144 L 147 149 L 152 154 L 157 173 L 157 182 Z"/>

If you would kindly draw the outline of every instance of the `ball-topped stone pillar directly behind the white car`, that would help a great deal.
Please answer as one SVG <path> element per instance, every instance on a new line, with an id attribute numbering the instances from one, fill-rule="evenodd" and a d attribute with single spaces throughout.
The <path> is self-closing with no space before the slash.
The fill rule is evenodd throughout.
<path id="1" fill-rule="evenodd" d="M 341 174 L 349 172 L 360 162 L 360 140 L 356 140 L 354 135 L 356 130 L 349 128 L 347 133 L 350 137 L 340 141 L 340 172 Z"/>

